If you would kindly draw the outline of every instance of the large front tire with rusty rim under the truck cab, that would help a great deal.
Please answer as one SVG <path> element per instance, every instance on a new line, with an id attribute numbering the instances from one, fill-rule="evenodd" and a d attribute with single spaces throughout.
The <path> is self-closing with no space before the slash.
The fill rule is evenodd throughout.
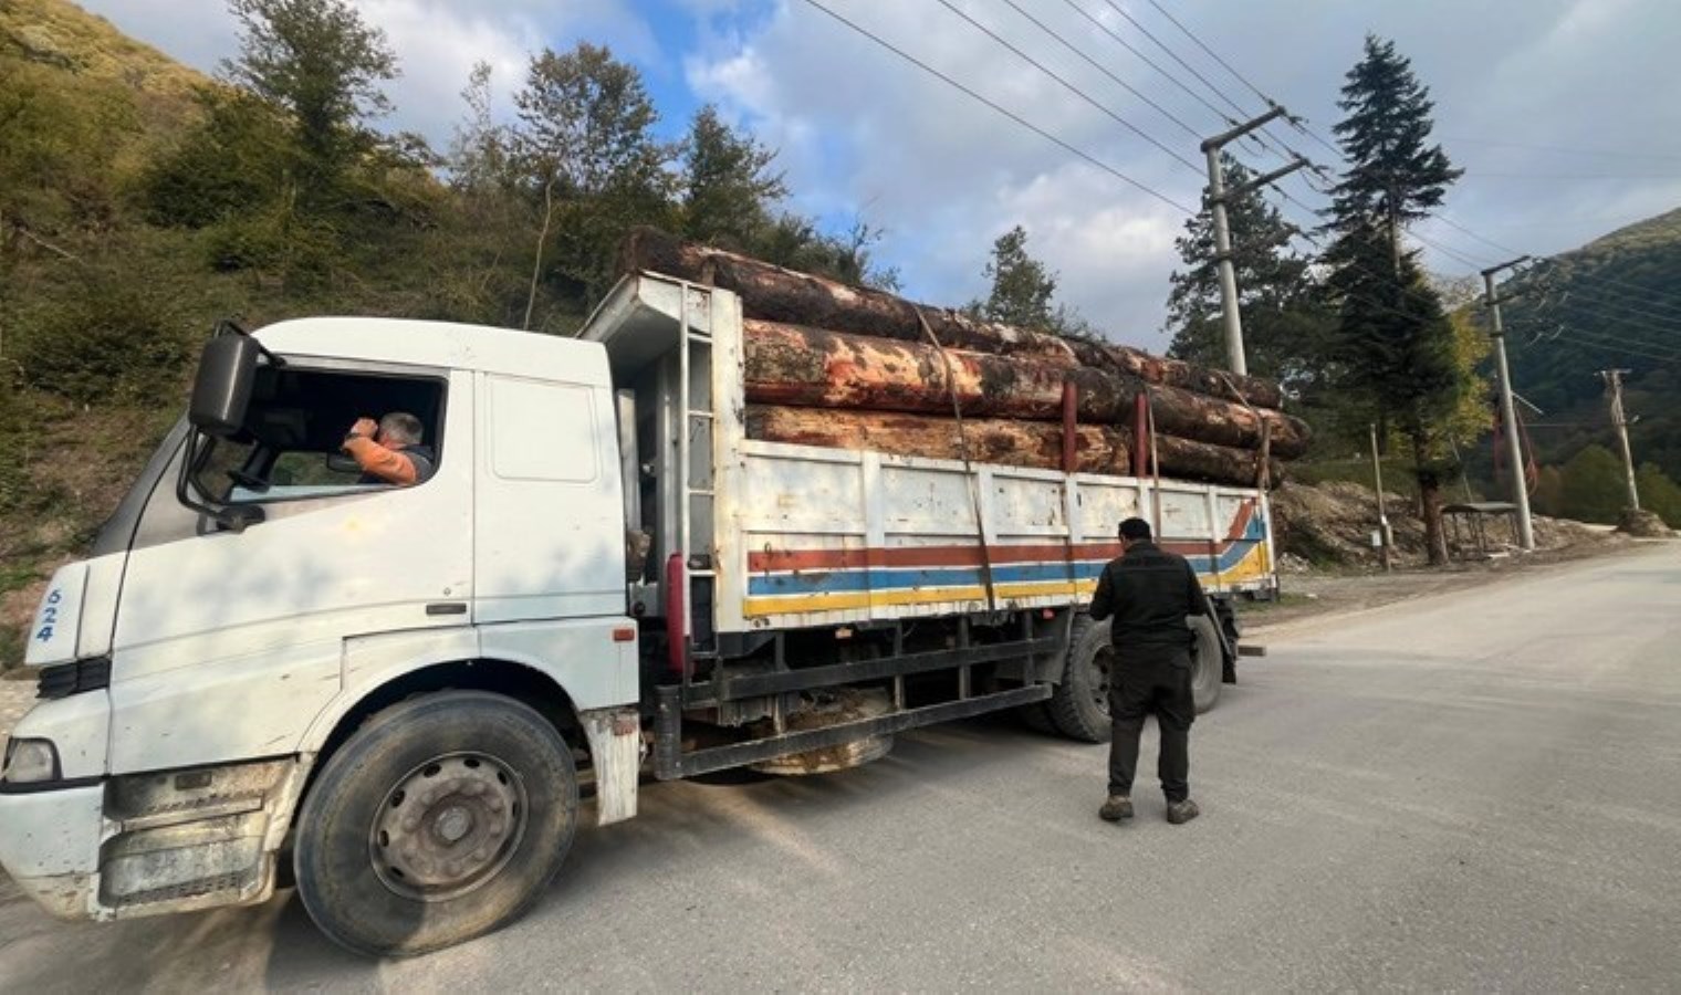
<path id="1" fill-rule="evenodd" d="M 298 817 L 298 894 L 356 953 L 427 953 L 530 909 L 577 822 L 572 751 L 543 716 L 479 691 L 427 694 L 326 761 Z"/>

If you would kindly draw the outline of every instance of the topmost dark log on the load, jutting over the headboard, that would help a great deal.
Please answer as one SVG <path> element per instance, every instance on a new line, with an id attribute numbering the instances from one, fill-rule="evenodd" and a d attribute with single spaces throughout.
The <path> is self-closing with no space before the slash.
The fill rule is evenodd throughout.
<path id="1" fill-rule="evenodd" d="M 725 287 L 741 297 L 748 318 L 914 343 L 926 343 L 931 329 L 945 348 L 1035 360 L 1054 366 L 1091 366 L 1126 373 L 1148 383 L 1224 400 L 1247 400 L 1259 408 L 1279 408 L 1284 403 L 1276 383 L 1256 376 L 1205 370 L 1131 346 L 1066 340 L 1044 331 L 980 321 L 958 311 L 916 304 L 886 291 L 851 287 L 723 249 L 691 245 L 656 229 L 630 232 L 620 247 L 619 267 L 620 272 L 652 271 Z"/>

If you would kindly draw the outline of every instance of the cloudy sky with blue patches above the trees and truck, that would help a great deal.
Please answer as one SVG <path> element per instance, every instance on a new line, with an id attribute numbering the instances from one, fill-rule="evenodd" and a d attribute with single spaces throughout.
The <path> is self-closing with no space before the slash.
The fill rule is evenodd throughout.
<path id="1" fill-rule="evenodd" d="M 235 50 L 224 0 L 81 2 L 200 69 Z M 1099 165 L 928 76 L 814 2 Z M 714 103 L 780 150 L 795 192 L 790 207 L 837 229 L 854 218 L 884 229 L 879 252 L 911 296 L 958 304 L 980 294 L 987 249 L 1020 224 L 1030 250 L 1059 272 L 1064 303 L 1118 340 L 1157 348 L 1173 237 L 1185 222 L 1175 205 L 1195 207 L 1205 183 L 1195 134 L 1264 109 L 1209 50 L 1328 138 L 1362 39 L 1394 39 L 1432 91 L 1436 136 L 1466 168 L 1446 220 L 1417 230 L 1427 262 L 1444 274 L 1503 261 L 1508 247 L 1536 255 L 1572 249 L 1681 207 L 1674 0 L 353 3 L 402 61 L 390 124 L 440 148 L 476 61 L 494 66 L 506 103 L 531 52 L 607 44 L 642 69 L 662 128 L 677 133 L 694 108 Z M 1288 146 L 1335 166 L 1315 136 L 1288 126 L 1271 133 L 1269 148 L 1244 145 L 1241 158 L 1271 168 Z M 1299 178 L 1283 190 L 1294 202 L 1274 200 L 1299 222 L 1325 203 Z"/>

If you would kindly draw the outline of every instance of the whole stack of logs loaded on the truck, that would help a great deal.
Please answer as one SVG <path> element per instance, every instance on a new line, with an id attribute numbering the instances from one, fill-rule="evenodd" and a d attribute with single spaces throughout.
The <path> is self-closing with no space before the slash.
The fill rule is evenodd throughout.
<path id="1" fill-rule="evenodd" d="M 620 267 L 741 297 L 751 439 L 1237 486 L 1276 484 L 1278 461 L 1308 445 L 1266 380 L 980 321 L 652 229 L 632 232 Z"/>

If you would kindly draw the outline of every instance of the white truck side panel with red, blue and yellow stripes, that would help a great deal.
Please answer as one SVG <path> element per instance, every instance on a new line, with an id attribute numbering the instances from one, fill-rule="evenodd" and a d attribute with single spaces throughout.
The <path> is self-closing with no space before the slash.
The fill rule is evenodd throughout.
<path id="1" fill-rule="evenodd" d="M 735 462 L 723 632 L 1081 603 L 1130 516 L 1160 521 L 1209 590 L 1271 583 L 1257 491 L 756 440 Z"/>

